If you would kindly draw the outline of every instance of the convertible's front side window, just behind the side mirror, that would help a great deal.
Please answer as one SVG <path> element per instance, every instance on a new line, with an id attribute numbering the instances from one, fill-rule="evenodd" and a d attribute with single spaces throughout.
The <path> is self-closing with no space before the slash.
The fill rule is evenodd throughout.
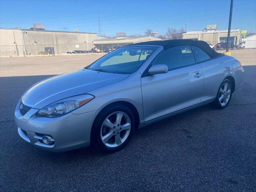
<path id="1" fill-rule="evenodd" d="M 161 52 L 152 65 L 165 64 L 168 70 L 194 64 L 195 59 L 190 46 L 176 46 Z"/>

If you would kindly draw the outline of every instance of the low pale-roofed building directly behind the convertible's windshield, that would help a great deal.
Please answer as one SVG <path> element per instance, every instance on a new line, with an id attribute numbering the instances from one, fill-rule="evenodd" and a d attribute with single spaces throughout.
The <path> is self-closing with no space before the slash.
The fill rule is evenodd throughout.
<path id="1" fill-rule="evenodd" d="M 93 44 L 96 49 L 100 51 L 112 49 L 113 46 L 125 46 L 129 44 L 145 42 L 145 41 L 158 41 L 160 38 L 145 36 L 145 37 L 124 37 L 124 38 L 108 38 L 101 40 L 94 40 Z"/>

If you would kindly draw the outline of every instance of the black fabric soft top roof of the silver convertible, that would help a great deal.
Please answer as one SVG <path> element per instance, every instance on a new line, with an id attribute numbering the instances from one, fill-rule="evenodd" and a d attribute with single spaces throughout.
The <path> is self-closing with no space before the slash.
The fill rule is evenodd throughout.
<path id="1" fill-rule="evenodd" d="M 219 53 L 214 51 L 205 41 L 194 41 L 190 39 L 173 39 L 173 40 L 160 40 L 160 41 L 147 41 L 147 42 L 140 42 L 135 43 L 132 45 L 158 45 L 163 46 L 164 49 L 167 49 L 172 46 L 178 46 L 178 45 L 193 45 L 201 48 L 206 52 L 211 58 L 214 58 L 216 56 L 219 56 Z"/>

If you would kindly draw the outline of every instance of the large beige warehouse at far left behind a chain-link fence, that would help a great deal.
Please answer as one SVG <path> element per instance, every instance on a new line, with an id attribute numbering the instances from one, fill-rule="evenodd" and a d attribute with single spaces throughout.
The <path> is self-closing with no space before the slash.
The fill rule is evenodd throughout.
<path id="1" fill-rule="evenodd" d="M 34 29 L 0 29 L 0 55 L 24 56 L 61 54 L 73 50 L 91 50 L 96 33 Z"/>

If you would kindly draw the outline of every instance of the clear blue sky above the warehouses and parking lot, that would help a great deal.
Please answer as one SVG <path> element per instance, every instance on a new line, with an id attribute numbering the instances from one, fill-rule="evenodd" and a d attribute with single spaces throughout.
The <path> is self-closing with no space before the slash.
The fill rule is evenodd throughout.
<path id="1" fill-rule="evenodd" d="M 146 29 L 165 34 L 167 28 L 203 30 L 217 24 L 218 30 L 228 29 L 230 0 L 0 0 L 1 28 L 30 28 L 42 23 L 46 30 L 67 30 L 114 36 L 144 34 Z M 256 32 L 256 0 L 234 0 L 232 29 Z"/>

